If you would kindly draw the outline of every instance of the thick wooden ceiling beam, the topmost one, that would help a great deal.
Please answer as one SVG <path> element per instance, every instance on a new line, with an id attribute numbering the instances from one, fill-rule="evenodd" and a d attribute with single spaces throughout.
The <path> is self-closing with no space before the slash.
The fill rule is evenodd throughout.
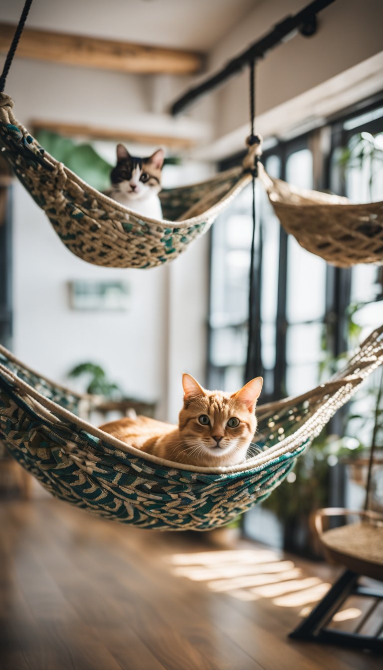
<path id="1" fill-rule="evenodd" d="M 0 52 L 7 52 L 15 25 L 0 23 Z M 203 56 L 191 51 L 101 40 L 25 28 L 16 56 L 134 74 L 195 74 Z"/>

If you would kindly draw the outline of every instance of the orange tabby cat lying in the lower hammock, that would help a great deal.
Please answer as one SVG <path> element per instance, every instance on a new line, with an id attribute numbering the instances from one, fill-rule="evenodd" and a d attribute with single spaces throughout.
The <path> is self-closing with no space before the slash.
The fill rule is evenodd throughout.
<path id="1" fill-rule="evenodd" d="M 105 423 L 100 429 L 166 460 L 204 467 L 235 465 L 245 460 L 256 432 L 262 383 L 262 377 L 256 377 L 230 394 L 207 391 L 185 374 L 178 425 L 138 416 Z"/>

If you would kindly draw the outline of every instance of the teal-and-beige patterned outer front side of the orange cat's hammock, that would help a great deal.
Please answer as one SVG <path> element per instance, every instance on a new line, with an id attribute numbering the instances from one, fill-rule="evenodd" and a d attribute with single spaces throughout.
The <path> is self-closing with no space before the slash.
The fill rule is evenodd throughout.
<path id="1" fill-rule="evenodd" d="M 304 444 L 245 474 L 205 474 L 133 457 L 78 429 L 44 419 L 3 379 L 0 438 L 54 496 L 103 517 L 142 527 L 208 530 L 268 496 Z M 267 444 L 264 444 L 267 448 Z"/>

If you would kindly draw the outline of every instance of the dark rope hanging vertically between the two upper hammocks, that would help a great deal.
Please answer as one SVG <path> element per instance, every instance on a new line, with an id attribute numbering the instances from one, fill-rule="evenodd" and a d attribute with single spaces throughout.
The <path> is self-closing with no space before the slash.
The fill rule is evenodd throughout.
<path id="1" fill-rule="evenodd" d="M 249 147 L 260 144 L 260 137 L 255 135 L 256 119 L 256 63 L 250 62 L 250 135 L 247 139 Z M 256 287 L 259 285 L 262 270 L 262 230 L 260 224 L 257 226 L 256 217 L 256 178 L 258 176 L 258 160 L 254 157 L 254 167 L 252 168 L 252 189 L 253 189 L 253 231 L 252 231 L 252 250 L 250 255 L 250 275 L 249 275 L 249 325 L 248 325 L 248 353 L 246 356 L 245 381 L 251 377 L 260 374 L 260 304 L 255 304 Z M 257 251 L 257 262 L 256 262 Z M 258 332 L 257 332 L 258 331 Z M 258 370 L 257 370 L 258 366 Z"/>

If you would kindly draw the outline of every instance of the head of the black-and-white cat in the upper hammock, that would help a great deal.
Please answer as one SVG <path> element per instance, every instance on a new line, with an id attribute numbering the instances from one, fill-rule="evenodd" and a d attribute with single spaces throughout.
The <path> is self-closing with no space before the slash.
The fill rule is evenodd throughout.
<path id="1" fill-rule="evenodd" d="M 146 198 L 161 190 L 161 170 L 164 151 L 157 149 L 148 158 L 131 156 L 122 144 L 117 144 L 117 165 L 111 171 L 111 183 L 132 200 Z"/>

